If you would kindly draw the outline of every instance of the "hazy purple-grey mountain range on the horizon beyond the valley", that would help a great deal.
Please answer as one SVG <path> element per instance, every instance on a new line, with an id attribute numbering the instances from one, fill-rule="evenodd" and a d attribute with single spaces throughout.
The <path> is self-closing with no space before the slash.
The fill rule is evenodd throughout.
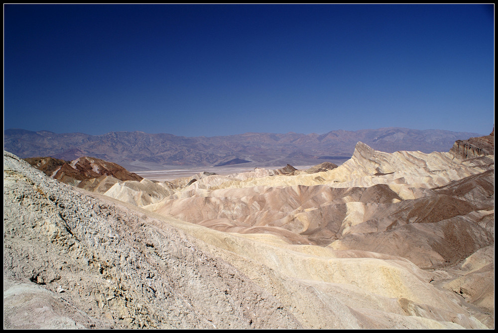
<path id="1" fill-rule="evenodd" d="M 3 132 L 3 149 L 21 158 L 50 156 L 69 161 L 91 156 L 139 171 L 173 166 L 226 166 L 237 161 L 248 167 L 316 165 L 324 160 L 342 163 L 352 156 L 359 141 L 387 153 L 401 150 L 430 153 L 447 152 L 455 141 L 477 136 L 481 134 L 406 128 L 217 137 L 143 132 L 58 134 L 7 129 Z"/>

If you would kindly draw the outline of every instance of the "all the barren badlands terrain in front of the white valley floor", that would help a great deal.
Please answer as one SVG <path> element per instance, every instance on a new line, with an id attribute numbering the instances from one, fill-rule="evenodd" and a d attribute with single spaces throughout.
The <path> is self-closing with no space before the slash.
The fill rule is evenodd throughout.
<path id="1" fill-rule="evenodd" d="M 494 131 L 166 182 L 3 161 L 4 328 L 494 328 Z"/>

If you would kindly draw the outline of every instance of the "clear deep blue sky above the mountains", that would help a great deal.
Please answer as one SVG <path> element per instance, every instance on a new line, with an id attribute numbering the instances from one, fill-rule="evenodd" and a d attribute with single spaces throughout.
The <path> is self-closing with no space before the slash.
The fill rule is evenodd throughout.
<path id="1" fill-rule="evenodd" d="M 493 5 L 4 5 L 4 129 L 489 134 Z"/>

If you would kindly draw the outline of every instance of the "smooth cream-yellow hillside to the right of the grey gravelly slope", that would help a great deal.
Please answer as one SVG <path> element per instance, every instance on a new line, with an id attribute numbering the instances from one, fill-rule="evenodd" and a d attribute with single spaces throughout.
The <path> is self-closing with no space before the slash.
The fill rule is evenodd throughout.
<path id="1" fill-rule="evenodd" d="M 401 257 L 289 245 L 270 235 L 230 235 L 176 223 L 295 308 L 297 318 L 314 328 L 457 328 L 463 324 L 466 310 L 461 310 L 458 297 L 441 293 L 429 283 L 433 273 Z M 307 306 L 309 302 L 315 306 Z M 480 327 L 476 319 L 467 325 Z"/>

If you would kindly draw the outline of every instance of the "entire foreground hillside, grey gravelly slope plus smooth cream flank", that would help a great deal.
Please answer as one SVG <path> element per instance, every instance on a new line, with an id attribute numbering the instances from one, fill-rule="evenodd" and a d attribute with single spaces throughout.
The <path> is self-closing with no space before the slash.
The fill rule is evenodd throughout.
<path id="1" fill-rule="evenodd" d="M 454 290 L 469 285 L 465 295 L 489 306 L 473 287 L 488 274 L 487 256 L 469 258 L 466 280 L 453 282 L 399 256 L 156 215 L 57 182 L 6 152 L 3 166 L 5 329 L 494 326 Z"/>

